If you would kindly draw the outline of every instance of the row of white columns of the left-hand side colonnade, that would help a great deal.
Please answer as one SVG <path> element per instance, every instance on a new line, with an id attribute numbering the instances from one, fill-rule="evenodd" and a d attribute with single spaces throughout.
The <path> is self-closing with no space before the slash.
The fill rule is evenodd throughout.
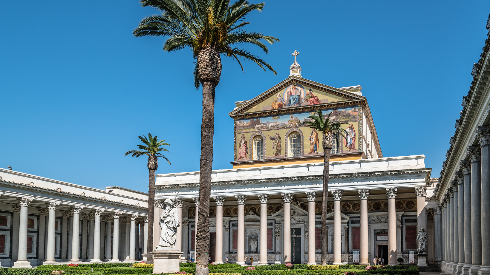
<path id="1" fill-rule="evenodd" d="M 27 233 L 28 233 L 28 213 L 27 207 L 32 200 L 27 198 L 21 198 L 18 206 L 14 207 L 14 211 L 18 210 L 20 212 L 19 215 L 19 240 L 18 240 L 18 256 L 17 260 L 14 262 L 13 268 L 31 268 L 31 263 L 27 258 Z M 60 260 L 55 259 L 55 250 L 56 250 L 56 230 L 60 230 L 56 228 L 56 208 L 59 206 L 58 203 L 49 203 L 45 208 L 40 208 L 40 213 L 47 214 L 48 222 L 46 233 L 40 233 L 40 248 L 39 248 L 39 259 L 43 259 L 44 255 L 46 255 L 43 264 L 55 264 Z M 111 213 L 109 216 L 103 216 L 104 221 L 107 222 L 107 236 L 105 248 L 106 248 L 106 258 L 100 258 L 100 247 L 101 247 L 101 214 L 104 210 L 101 209 L 93 209 L 92 213 L 82 213 L 82 232 L 85 232 L 81 237 L 82 247 L 80 249 L 80 211 L 83 209 L 83 206 L 72 206 L 72 210 L 70 212 L 63 211 L 63 227 L 67 225 L 68 216 L 65 217 L 65 214 L 69 213 L 73 215 L 73 218 L 70 218 L 70 225 L 67 236 L 67 259 L 61 261 L 69 261 L 70 263 L 80 263 L 80 262 L 93 262 L 98 263 L 102 261 L 111 261 L 111 262 L 121 262 L 119 259 L 119 218 L 122 214 L 121 212 Z M 44 211 L 47 210 L 47 211 Z M 42 215 L 42 214 L 41 214 Z M 138 215 L 131 215 L 130 217 L 130 225 L 129 225 L 129 238 L 128 241 L 125 242 L 126 246 L 129 248 L 129 258 L 128 262 L 136 261 L 136 241 L 142 237 L 143 234 L 137 232 L 136 230 L 136 218 Z M 65 220 L 66 219 L 66 220 Z M 44 223 L 44 220 L 42 220 Z M 114 226 L 112 226 L 114 224 Z M 44 228 L 44 225 L 40 225 Z M 61 227 L 61 225 L 58 225 Z M 103 228 L 103 227 L 102 227 Z M 111 230 L 113 228 L 113 230 Z M 140 227 L 141 229 L 141 227 Z M 65 229 L 66 230 L 66 229 Z M 138 230 L 140 231 L 140 230 Z M 144 231 L 147 232 L 147 220 L 145 221 Z M 88 232 L 88 234 L 86 233 Z M 139 235 L 136 235 L 136 234 Z M 46 242 L 46 253 L 44 253 L 44 234 L 47 237 Z M 111 235 L 113 235 L 113 239 L 111 241 Z M 102 235 L 103 236 L 103 235 Z M 88 239 L 87 239 L 88 238 Z M 41 240 L 42 245 L 41 245 Z M 144 245 L 143 253 L 146 253 L 146 243 Z M 111 246 L 112 246 L 112 257 L 111 257 Z M 61 248 L 60 248 L 61 249 Z M 42 250 L 42 251 L 41 251 Z M 81 250 L 81 257 L 80 257 Z"/>

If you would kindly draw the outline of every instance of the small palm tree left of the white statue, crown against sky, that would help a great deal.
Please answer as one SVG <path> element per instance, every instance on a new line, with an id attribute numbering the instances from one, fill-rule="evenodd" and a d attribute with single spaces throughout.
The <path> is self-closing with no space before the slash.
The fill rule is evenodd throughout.
<path id="1" fill-rule="evenodd" d="M 158 137 L 152 137 L 151 134 L 148 133 L 148 138 L 143 136 L 138 136 L 138 138 L 143 142 L 144 145 L 137 145 L 139 149 L 143 150 L 129 150 L 124 153 L 124 156 L 131 154 L 131 157 L 140 157 L 140 156 L 148 156 L 148 170 L 149 170 L 149 181 L 148 181 L 148 241 L 147 248 L 148 252 L 151 252 L 151 248 L 153 247 L 153 215 L 155 213 L 155 171 L 158 169 L 158 158 L 164 158 L 170 164 L 170 160 L 167 159 L 160 152 L 166 151 L 165 148 L 160 148 L 160 146 L 170 145 L 169 143 L 165 143 L 165 140 L 158 140 Z M 149 253 L 148 253 L 149 254 Z M 147 263 L 153 263 L 153 257 L 151 255 L 147 255 Z"/>

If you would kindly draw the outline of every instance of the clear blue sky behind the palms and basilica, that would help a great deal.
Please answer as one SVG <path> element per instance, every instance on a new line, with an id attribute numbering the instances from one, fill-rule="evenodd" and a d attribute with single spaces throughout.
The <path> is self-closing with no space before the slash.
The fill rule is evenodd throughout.
<path id="1" fill-rule="evenodd" d="M 278 75 L 223 58 L 213 169 L 231 168 L 233 103 L 288 77 L 362 85 L 385 157 L 426 155 L 438 177 L 473 63 L 487 39 L 488 1 L 266 0 L 248 30 L 281 42 L 259 54 Z M 157 173 L 199 169 L 201 91 L 190 50 L 131 31 L 158 13 L 137 1 L 0 2 L 0 167 L 96 188 L 147 190 L 147 159 L 124 157 L 138 135 L 171 144 Z"/>

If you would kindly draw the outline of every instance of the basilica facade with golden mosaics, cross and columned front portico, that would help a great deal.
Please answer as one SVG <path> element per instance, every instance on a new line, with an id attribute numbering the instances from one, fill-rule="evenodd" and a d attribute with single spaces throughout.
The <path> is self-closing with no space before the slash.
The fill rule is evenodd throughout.
<path id="1" fill-rule="evenodd" d="M 343 123 L 345 131 L 330 151 L 328 194 L 321 193 L 321 133 L 305 124 L 317 110 Z M 437 180 L 423 155 L 383 156 L 361 86 L 307 80 L 295 60 L 287 79 L 236 102 L 229 115 L 233 168 L 212 172 L 211 261 L 315 264 L 322 238 L 331 264 L 373 264 L 379 256 L 385 264 L 402 258 L 426 267 L 439 260 L 434 209 L 427 207 Z M 181 213 L 182 261 L 194 260 L 198 183 L 199 172 L 156 175 L 155 220 L 161 202 L 174 200 Z M 326 236 L 320 234 L 322 197 L 328 200 Z M 427 245 L 419 253 L 422 228 Z M 155 224 L 154 236 L 159 234 Z"/>

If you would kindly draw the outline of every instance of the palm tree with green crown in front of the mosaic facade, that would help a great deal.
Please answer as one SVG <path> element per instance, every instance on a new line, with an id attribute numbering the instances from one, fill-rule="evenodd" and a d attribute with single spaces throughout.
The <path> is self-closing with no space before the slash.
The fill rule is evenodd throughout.
<path id="1" fill-rule="evenodd" d="M 339 136 L 344 137 L 345 130 L 342 129 L 342 124 L 348 123 L 334 123 L 330 121 L 330 115 L 326 119 L 323 118 L 321 110 L 318 110 L 316 114 L 310 113 L 310 121 L 305 121 L 303 124 L 315 129 L 323 134 L 322 146 L 323 146 L 323 190 L 321 194 L 321 265 L 327 265 L 327 198 L 328 198 L 328 165 L 330 163 L 330 150 L 333 147 L 334 137 L 339 143 Z"/>

